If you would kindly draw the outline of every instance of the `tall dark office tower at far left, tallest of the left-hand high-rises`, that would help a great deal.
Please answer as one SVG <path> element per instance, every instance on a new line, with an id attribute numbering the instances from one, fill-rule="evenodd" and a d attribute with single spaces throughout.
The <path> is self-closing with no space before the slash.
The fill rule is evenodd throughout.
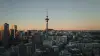
<path id="1" fill-rule="evenodd" d="M 4 24 L 4 33 L 3 33 L 3 45 L 5 49 L 9 48 L 9 39 L 10 39 L 10 33 L 9 33 L 9 24 Z"/>

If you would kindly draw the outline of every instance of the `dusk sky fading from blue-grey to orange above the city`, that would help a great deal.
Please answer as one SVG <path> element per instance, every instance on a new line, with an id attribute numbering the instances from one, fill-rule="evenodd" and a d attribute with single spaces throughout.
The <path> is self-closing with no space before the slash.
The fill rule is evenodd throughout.
<path id="1" fill-rule="evenodd" d="M 100 30 L 100 0 L 0 0 L 0 26 L 45 29 L 46 9 L 49 28 Z"/>

